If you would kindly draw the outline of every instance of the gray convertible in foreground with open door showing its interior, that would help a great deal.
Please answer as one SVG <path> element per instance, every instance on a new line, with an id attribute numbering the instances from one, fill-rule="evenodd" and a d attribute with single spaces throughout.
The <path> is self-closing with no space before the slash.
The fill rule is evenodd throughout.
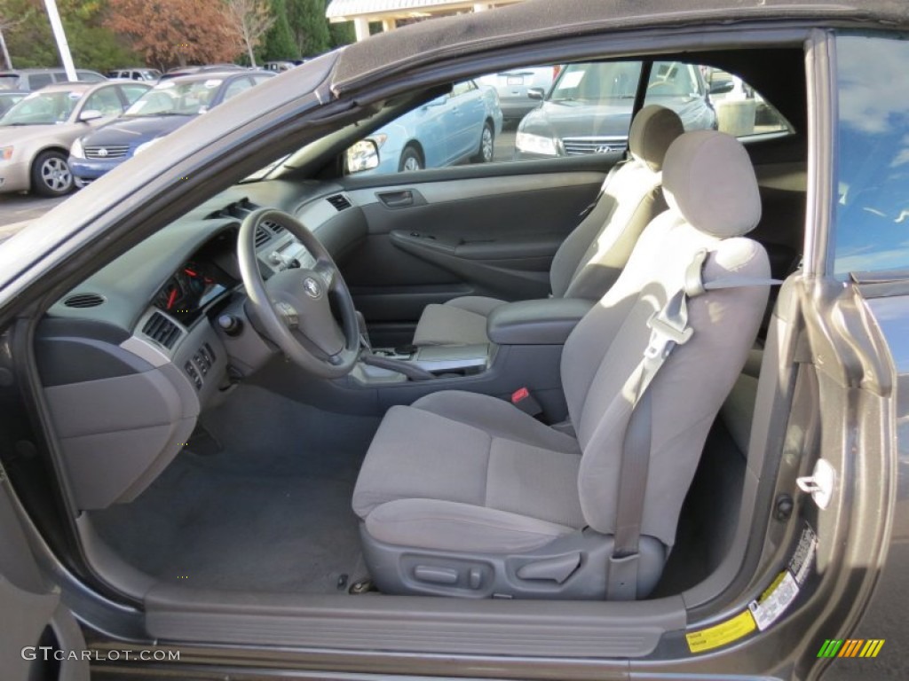
<path id="1" fill-rule="evenodd" d="M 10 237 L 3 681 L 905 679 L 906 35 L 891 0 L 415 22 Z M 522 60 L 639 64 L 599 83 L 632 159 L 345 168 Z M 657 64 L 787 124 L 684 132 Z M 605 232 L 616 179 L 654 219 Z M 484 342 L 414 345 L 426 312 Z"/>

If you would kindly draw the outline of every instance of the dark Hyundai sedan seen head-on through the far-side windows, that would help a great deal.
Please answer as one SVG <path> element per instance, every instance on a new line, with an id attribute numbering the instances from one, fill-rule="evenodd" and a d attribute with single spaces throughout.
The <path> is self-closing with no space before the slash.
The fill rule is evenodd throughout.
<path id="1" fill-rule="evenodd" d="M 624 153 L 641 64 L 569 64 L 548 94 L 528 90 L 542 105 L 518 124 L 515 158 Z M 704 77 L 692 64 L 654 62 L 645 102 L 673 109 L 685 130 L 716 128 Z"/>

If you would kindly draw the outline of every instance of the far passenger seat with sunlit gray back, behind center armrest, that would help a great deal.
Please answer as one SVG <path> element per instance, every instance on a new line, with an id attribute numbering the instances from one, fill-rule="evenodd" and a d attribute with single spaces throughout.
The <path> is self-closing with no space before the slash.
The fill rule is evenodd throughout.
<path id="1" fill-rule="evenodd" d="M 644 227 L 665 210 L 663 159 L 682 132 L 681 119 L 663 106 L 645 106 L 634 116 L 628 135 L 631 160 L 606 177 L 594 209 L 555 252 L 549 271 L 554 298 L 597 301 L 614 284 Z M 488 343 L 486 320 L 502 304 L 496 298 L 462 296 L 427 305 L 414 344 Z"/>

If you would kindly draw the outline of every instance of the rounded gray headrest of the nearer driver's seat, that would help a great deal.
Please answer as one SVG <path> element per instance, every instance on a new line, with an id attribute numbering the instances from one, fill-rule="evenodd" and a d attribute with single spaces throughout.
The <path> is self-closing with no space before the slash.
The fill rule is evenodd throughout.
<path id="1" fill-rule="evenodd" d="M 671 210 L 721 239 L 747 234 L 761 220 L 754 166 L 725 133 L 698 130 L 676 139 L 663 163 L 663 192 Z"/>

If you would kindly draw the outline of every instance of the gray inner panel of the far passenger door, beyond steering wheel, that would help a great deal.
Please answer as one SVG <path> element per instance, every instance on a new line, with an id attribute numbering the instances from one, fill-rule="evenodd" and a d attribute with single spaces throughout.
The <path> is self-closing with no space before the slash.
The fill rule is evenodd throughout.
<path id="1" fill-rule="evenodd" d="M 413 178 L 380 177 L 351 191 L 368 234 L 343 269 L 371 329 L 413 326 L 427 303 L 462 295 L 546 297 L 553 256 L 604 173 Z"/>

